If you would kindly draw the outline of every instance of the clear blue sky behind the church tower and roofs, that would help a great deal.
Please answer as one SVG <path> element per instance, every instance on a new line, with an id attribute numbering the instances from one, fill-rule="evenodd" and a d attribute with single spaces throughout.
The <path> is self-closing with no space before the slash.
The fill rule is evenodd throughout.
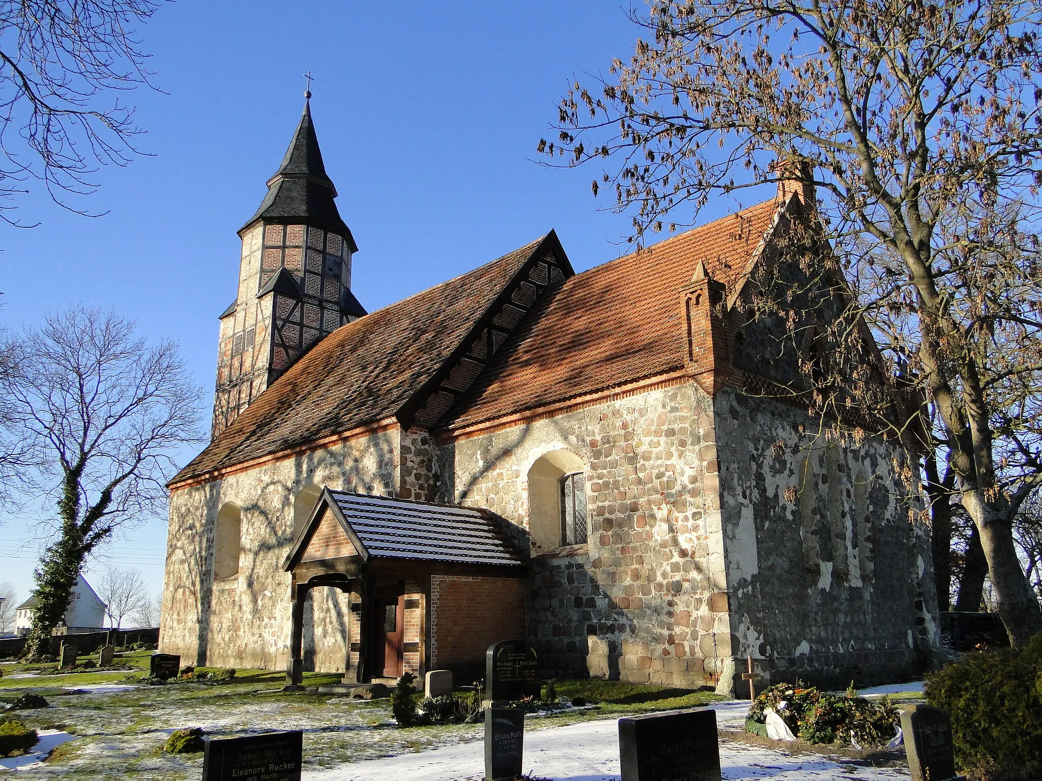
<path id="1" fill-rule="evenodd" d="M 371 311 L 555 228 L 576 270 L 618 256 L 628 219 L 601 211 L 594 170 L 534 162 L 574 74 L 605 70 L 639 29 L 613 2 L 270 2 L 179 0 L 141 28 L 159 92 L 130 101 L 147 131 L 127 168 L 97 175 L 64 211 L 21 201 L 31 230 L 0 225 L 0 323 L 72 303 L 116 307 L 185 355 L 208 417 L 217 316 L 234 297 L 235 230 L 265 194 L 303 105 L 359 252 L 353 291 Z M 30 186 L 32 183 L 29 183 Z M 721 204 L 720 211 L 731 204 Z M 708 209 L 703 219 L 718 216 Z M 191 457 L 185 453 L 181 462 Z M 36 545 L 25 518 L 0 527 L 0 581 L 24 599 Z M 166 525 L 107 550 L 162 586 Z M 94 563 L 97 573 L 102 563 Z M 91 577 L 89 572 L 88 577 Z"/>

